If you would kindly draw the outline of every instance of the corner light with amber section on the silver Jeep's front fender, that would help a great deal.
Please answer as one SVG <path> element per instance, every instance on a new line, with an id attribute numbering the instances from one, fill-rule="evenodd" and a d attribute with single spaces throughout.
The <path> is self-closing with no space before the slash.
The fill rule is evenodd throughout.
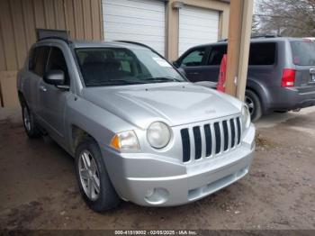
<path id="1" fill-rule="evenodd" d="M 139 141 L 133 131 L 120 132 L 113 136 L 111 146 L 116 150 L 139 150 Z"/>

